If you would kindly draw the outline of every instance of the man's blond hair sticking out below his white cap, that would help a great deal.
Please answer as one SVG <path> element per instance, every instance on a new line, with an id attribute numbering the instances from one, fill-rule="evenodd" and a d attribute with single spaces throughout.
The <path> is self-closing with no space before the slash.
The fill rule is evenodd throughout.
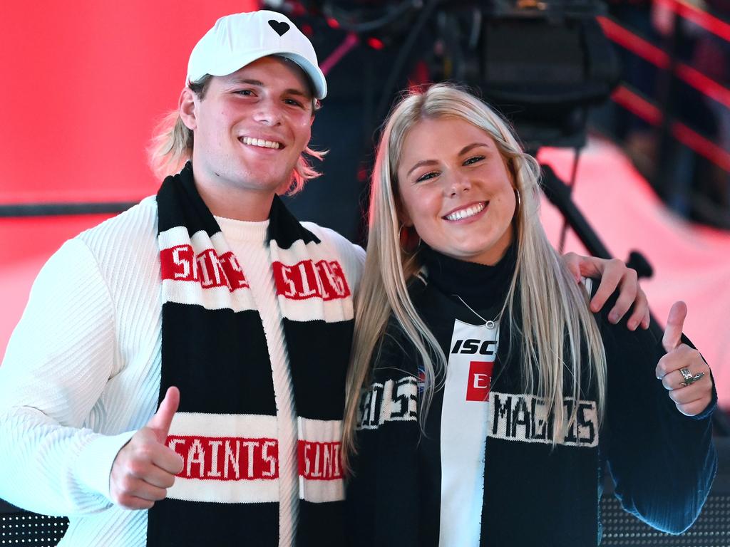
<path id="1" fill-rule="evenodd" d="M 199 99 L 205 98 L 205 92 L 210 85 L 212 76 L 206 74 L 197 82 L 191 82 L 188 87 Z M 312 115 L 319 109 L 319 101 L 312 98 Z M 299 155 L 291 176 L 291 184 L 282 189 L 282 193 L 296 194 L 304 188 L 304 184 L 320 176 L 319 171 L 312 167 L 308 158 L 322 160 L 327 152 L 312 150 L 309 146 Z M 150 168 L 159 179 L 164 179 L 180 171 L 185 162 L 193 158 L 193 130 L 183 123 L 177 109 L 168 112 L 158 123 L 147 149 Z"/>

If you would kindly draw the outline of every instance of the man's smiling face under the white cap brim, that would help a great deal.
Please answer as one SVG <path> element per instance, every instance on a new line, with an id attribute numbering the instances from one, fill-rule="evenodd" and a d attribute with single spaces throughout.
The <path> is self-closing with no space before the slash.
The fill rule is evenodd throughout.
<path id="1" fill-rule="evenodd" d="M 196 182 L 271 196 L 291 182 L 313 120 L 310 82 L 299 66 L 258 59 L 212 77 L 191 105 L 193 115 L 183 119 L 194 133 Z"/>

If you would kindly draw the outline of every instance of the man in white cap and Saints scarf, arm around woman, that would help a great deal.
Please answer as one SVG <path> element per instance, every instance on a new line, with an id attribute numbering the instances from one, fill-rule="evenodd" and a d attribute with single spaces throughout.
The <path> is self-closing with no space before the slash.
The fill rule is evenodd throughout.
<path id="1" fill-rule="evenodd" d="M 285 16 L 221 18 L 158 139 L 188 163 L 39 274 L 0 367 L 0 497 L 69 516 L 62 546 L 342 544 L 364 252 L 277 198 L 316 174 L 325 95 Z M 612 266 L 623 314 L 635 275 Z"/>

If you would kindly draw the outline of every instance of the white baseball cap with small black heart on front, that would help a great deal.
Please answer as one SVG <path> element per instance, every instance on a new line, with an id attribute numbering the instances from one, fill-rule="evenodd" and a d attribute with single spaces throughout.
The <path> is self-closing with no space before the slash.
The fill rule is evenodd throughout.
<path id="1" fill-rule="evenodd" d="M 315 48 L 286 15 L 266 9 L 218 19 L 193 47 L 185 85 L 206 74 L 227 76 L 267 55 L 280 55 L 299 65 L 312 80 L 315 98 L 325 98 L 327 82 Z"/>

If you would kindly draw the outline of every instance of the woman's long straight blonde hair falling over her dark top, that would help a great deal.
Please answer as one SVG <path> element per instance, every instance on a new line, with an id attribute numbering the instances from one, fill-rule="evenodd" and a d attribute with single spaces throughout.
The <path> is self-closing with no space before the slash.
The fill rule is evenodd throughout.
<path id="1" fill-rule="evenodd" d="M 588 349 L 588 381 L 596 383 L 598 415 L 603 414 L 606 357 L 601 335 L 588 311 L 585 291 L 561 262 L 540 224 L 537 161 L 521 150 L 510 127 L 487 104 L 455 85 L 436 84 L 425 91 L 411 92 L 401 100 L 385 123 L 377 148 L 370 194 L 369 242 L 356 302 L 355 338 L 347 376 L 345 469 L 357 449 L 355 430 L 361 390 L 369 382 L 373 356 L 388 318 L 393 315 L 423 361 L 426 378 L 419 408 L 422 427 L 433 397 L 434 379 L 446 365 L 436 338 L 408 295 L 407 284 L 421 263 L 418 252 L 404 252 L 399 244 L 397 179 L 408 132 L 420 120 L 444 117 L 464 120 L 491 136 L 521 198 L 512 221 L 517 265 L 502 317 L 510 322 L 512 338 L 521 343 L 524 389 L 544 397 L 548 415 L 550 411 L 554 413 L 553 445 L 564 427 L 571 427 L 576 420 L 577 405 L 566 415 L 564 398 L 580 399 L 581 367 L 585 365 L 581 362 L 582 343 Z M 515 309 L 520 311 L 519 324 L 515 322 Z M 564 393 L 566 374 L 572 386 L 569 393 Z"/>

